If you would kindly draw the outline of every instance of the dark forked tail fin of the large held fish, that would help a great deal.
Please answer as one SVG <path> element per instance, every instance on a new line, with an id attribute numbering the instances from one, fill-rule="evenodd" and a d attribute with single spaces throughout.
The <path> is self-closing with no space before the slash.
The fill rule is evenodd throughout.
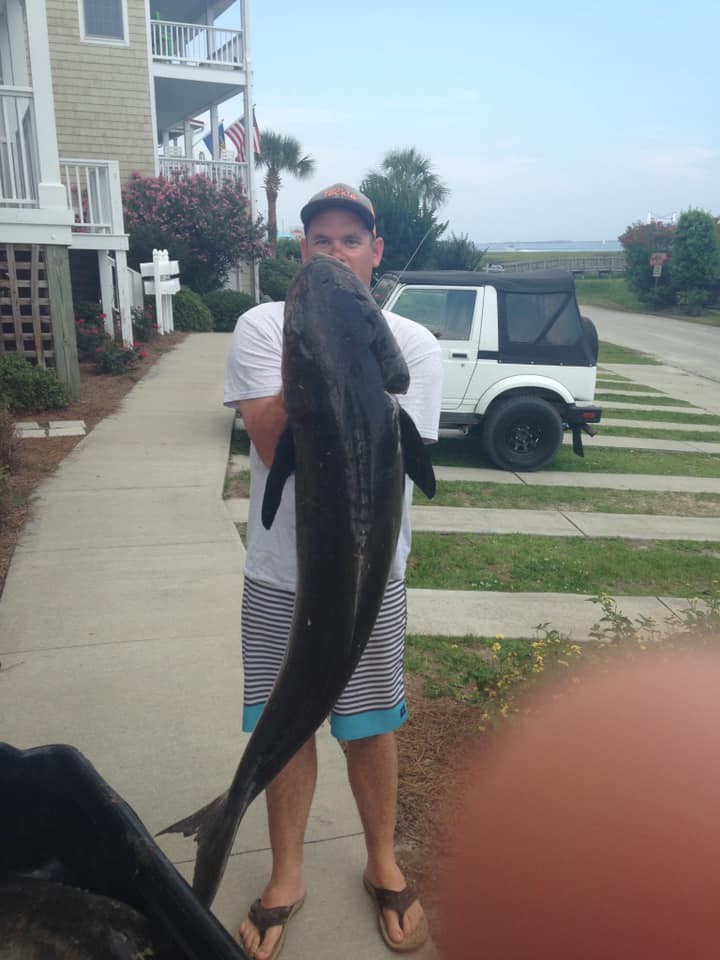
<path id="1" fill-rule="evenodd" d="M 198 846 L 192 887 L 205 907 L 209 907 L 215 898 L 239 823 L 239 818 L 228 811 L 227 799 L 226 792 L 158 834 L 182 833 L 186 837 L 195 837 Z"/>

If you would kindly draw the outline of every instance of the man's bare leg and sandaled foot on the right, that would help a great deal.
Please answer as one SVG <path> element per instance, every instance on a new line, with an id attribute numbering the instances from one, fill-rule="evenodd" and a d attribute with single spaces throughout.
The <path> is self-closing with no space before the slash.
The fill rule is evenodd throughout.
<path id="1" fill-rule="evenodd" d="M 405 877 L 395 859 L 398 790 L 395 734 L 350 740 L 346 756 L 350 786 L 365 833 L 368 854 L 365 876 L 376 887 L 403 890 Z M 393 910 L 385 910 L 384 914 L 390 939 L 402 943 L 420 922 L 423 909 L 417 900 L 408 907 L 404 928 Z"/>

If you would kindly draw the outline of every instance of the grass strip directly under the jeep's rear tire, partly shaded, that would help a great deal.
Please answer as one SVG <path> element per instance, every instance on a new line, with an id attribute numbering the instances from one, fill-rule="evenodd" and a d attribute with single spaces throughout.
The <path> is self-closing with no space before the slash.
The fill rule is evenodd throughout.
<path id="1" fill-rule="evenodd" d="M 493 468 L 492 463 L 482 453 L 479 438 L 472 435 L 460 440 L 439 440 L 432 447 L 432 460 L 437 466 Z M 720 477 L 720 457 L 708 453 L 592 447 L 592 438 L 586 437 L 584 457 L 576 457 L 569 446 L 563 446 L 544 469 L 553 473 L 559 471 Z"/>

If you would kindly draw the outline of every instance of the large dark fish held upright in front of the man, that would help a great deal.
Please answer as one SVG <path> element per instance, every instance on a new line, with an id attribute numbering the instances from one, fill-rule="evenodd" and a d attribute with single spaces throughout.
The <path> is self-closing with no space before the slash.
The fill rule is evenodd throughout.
<path id="1" fill-rule="evenodd" d="M 297 589 L 287 651 L 230 788 L 163 832 L 195 836 L 193 889 L 210 904 L 240 820 L 313 735 L 370 636 L 402 517 L 404 475 L 427 496 L 435 477 L 392 394 L 410 376 L 381 310 L 355 274 L 314 257 L 285 304 L 281 434 L 262 505 L 270 527 L 295 475 Z"/>

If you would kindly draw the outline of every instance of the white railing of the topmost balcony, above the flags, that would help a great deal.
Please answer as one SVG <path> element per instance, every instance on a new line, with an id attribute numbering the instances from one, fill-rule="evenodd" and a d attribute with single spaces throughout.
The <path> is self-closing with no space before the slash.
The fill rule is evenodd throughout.
<path id="1" fill-rule="evenodd" d="M 244 65 L 242 30 L 171 20 L 152 20 L 150 29 L 155 60 L 191 66 Z"/>

